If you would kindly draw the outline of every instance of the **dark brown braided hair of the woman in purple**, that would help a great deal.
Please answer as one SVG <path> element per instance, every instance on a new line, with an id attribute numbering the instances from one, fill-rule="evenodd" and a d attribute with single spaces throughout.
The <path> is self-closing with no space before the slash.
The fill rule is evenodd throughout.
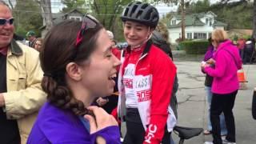
<path id="1" fill-rule="evenodd" d="M 75 42 L 82 22 L 64 21 L 54 26 L 47 34 L 42 44 L 40 61 L 44 77 L 42 90 L 54 106 L 69 109 L 76 115 L 88 114 L 81 101 L 74 98 L 66 84 L 66 65 L 76 62 L 78 65 L 88 59 L 96 47 L 98 32 L 103 29 L 97 24 L 94 29 L 88 29 L 83 34 L 82 43 L 76 47 Z"/>

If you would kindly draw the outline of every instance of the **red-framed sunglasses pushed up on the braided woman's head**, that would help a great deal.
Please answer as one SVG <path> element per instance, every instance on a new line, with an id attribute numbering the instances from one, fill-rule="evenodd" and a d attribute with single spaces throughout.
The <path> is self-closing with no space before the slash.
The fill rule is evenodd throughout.
<path id="1" fill-rule="evenodd" d="M 86 30 L 94 29 L 97 24 L 98 20 L 91 16 L 90 14 L 86 14 L 82 19 L 82 26 L 81 29 L 78 31 L 78 35 L 76 38 L 75 46 L 78 47 L 82 43 L 82 38 L 86 33 Z"/>

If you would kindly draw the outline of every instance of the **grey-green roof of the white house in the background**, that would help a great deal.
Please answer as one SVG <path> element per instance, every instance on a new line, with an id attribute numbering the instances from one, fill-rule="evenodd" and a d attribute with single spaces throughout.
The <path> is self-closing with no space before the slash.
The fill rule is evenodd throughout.
<path id="1" fill-rule="evenodd" d="M 187 14 L 185 16 L 185 26 L 204 26 L 206 25 L 204 22 L 200 20 L 200 18 L 204 17 L 206 14 L 212 14 L 214 17 L 217 17 L 216 14 L 214 14 L 211 11 L 199 13 L 199 14 Z M 174 17 L 177 20 L 182 20 L 182 16 L 180 14 L 174 15 Z M 226 26 L 226 23 L 219 22 L 217 20 L 214 20 L 214 26 Z M 170 22 L 167 23 L 168 28 L 174 28 L 174 27 L 180 27 L 182 26 L 182 22 L 178 22 L 177 25 L 170 25 Z"/>

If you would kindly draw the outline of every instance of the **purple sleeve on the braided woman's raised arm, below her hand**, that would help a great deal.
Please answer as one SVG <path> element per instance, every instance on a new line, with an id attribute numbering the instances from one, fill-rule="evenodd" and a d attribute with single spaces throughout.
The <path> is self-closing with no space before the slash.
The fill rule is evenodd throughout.
<path id="1" fill-rule="evenodd" d="M 121 144 L 120 131 L 118 126 L 108 126 L 94 134 L 90 134 L 91 143 L 96 143 L 96 138 L 101 136 L 106 140 L 106 144 Z"/>

